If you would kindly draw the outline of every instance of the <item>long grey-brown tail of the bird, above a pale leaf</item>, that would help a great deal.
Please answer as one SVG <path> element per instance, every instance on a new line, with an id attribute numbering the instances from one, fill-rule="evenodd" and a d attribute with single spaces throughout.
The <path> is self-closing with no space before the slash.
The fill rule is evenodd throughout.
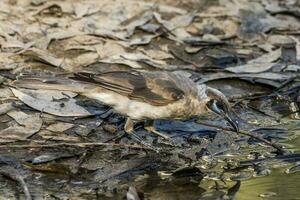
<path id="1" fill-rule="evenodd" d="M 33 77 L 19 76 L 11 83 L 11 86 L 27 89 L 61 90 L 83 93 L 95 88 L 93 84 L 81 83 L 66 77 Z"/>

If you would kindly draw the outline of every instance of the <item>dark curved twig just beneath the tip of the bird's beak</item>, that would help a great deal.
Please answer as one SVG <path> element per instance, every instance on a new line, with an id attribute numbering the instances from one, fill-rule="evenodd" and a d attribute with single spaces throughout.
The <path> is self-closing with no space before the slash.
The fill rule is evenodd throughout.
<path id="1" fill-rule="evenodd" d="M 210 127 L 214 127 L 214 128 L 217 128 L 217 129 L 221 129 L 221 130 L 224 130 L 224 131 L 230 131 L 230 132 L 234 132 L 234 133 L 238 133 L 238 134 L 241 134 L 241 135 L 246 135 L 248 137 L 251 137 L 251 138 L 254 138 L 260 142 L 263 142 L 265 143 L 266 145 L 268 146 L 271 146 L 273 147 L 274 149 L 276 149 L 278 151 L 278 153 L 284 153 L 285 151 L 282 149 L 282 146 L 278 145 L 278 144 L 275 144 L 269 140 L 266 140 L 265 138 L 257 135 L 257 134 L 252 134 L 252 133 L 249 133 L 247 131 L 243 131 L 243 130 L 239 130 L 238 132 L 235 132 L 234 130 L 232 130 L 231 128 L 227 128 L 227 127 L 223 127 L 223 126 L 218 126 L 218 125 L 214 125 L 214 124 L 209 124 L 209 123 L 205 123 L 205 122 L 197 122 L 199 124 L 203 124 L 205 126 L 210 126 Z"/>

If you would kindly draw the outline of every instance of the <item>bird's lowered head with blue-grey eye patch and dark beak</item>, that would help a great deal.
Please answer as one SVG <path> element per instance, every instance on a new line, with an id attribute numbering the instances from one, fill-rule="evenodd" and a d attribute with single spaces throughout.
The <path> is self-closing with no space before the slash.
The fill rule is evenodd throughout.
<path id="1" fill-rule="evenodd" d="M 233 111 L 226 98 L 226 96 L 217 89 L 207 87 L 206 95 L 208 101 L 206 107 L 214 113 L 222 116 L 234 128 L 236 132 L 239 131 L 238 122 L 234 119 Z"/>

